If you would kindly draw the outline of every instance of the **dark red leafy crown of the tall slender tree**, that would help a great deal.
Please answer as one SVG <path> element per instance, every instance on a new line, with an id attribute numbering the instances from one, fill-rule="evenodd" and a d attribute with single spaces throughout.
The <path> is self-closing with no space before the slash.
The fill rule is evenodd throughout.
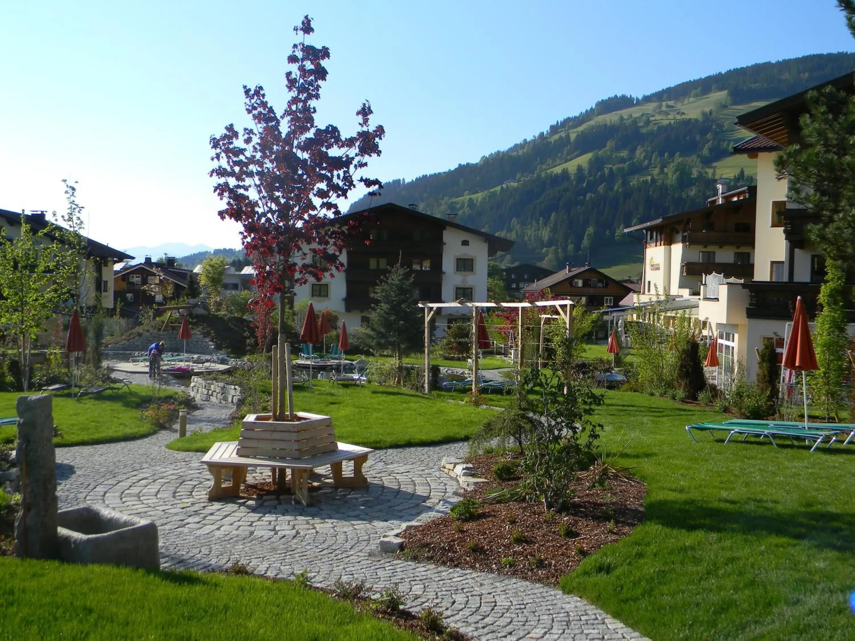
<path id="1" fill-rule="evenodd" d="M 214 191 L 226 206 L 221 219 L 243 226 L 241 239 L 256 269 L 257 309 L 274 306 L 274 295 L 291 284 L 340 272 L 339 255 L 352 227 L 333 225 L 342 214 L 339 203 L 357 187 L 376 193 L 380 180 L 363 175 L 371 156 L 380 156 L 382 126 L 371 126 L 371 105 L 357 110 L 357 133 L 342 136 L 333 125 L 315 125 L 315 103 L 327 79 L 327 47 L 306 44 L 315 30 L 307 15 L 294 32 L 301 41 L 288 56 L 288 102 L 281 115 L 268 103 L 264 88 L 244 86 L 246 113 L 252 126 L 233 124 L 210 138 L 214 150 Z M 285 331 L 280 304 L 280 334 Z M 280 340 L 282 338 L 280 337 Z"/>

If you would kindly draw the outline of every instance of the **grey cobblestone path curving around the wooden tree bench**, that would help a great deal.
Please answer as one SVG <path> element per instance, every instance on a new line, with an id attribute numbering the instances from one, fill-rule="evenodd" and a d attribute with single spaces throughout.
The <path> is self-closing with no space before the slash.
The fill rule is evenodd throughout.
<path id="1" fill-rule="evenodd" d="M 227 422 L 231 408 L 199 404 L 188 432 Z M 306 569 L 315 585 L 339 578 L 364 579 L 379 590 L 398 585 L 408 608 L 438 607 L 451 625 L 479 639 L 642 638 L 580 598 L 543 585 L 380 554 L 383 533 L 451 506 L 457 484 L 439 472 L 439 461 L 462 454 L 462 444 L 379 450 L 364 468 L 369 488 L 325 485 L 305 508 L 290 497 L 207 501 L 210 477 L 201 455 L 167 450 L 174 437 L 159 432 L 56 450 L 60 506 L 106 504 L 154 520 L 163 567 L 222 570 L 242 562 L 283 579 Z"/>

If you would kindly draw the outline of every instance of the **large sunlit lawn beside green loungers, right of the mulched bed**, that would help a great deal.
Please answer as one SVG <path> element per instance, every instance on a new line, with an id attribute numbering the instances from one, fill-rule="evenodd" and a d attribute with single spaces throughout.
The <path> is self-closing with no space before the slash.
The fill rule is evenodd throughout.
<path id="1" fill-rule="evenodd" d="M 608 392 L 616 464 L 649 486 L 645 522 L 561 586 L 657 641 L 849 639 L 855 615 L 855 449 L 694 444 L 709 409 Z"/>

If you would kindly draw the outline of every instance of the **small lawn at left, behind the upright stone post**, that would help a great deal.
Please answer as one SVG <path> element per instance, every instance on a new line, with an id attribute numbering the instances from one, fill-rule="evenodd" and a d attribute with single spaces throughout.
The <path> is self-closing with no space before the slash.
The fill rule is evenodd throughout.
<path id="1" fill-rule="evenodd" d="M 32 393 L 32 392 L 31 392 Z M 162 390 L 162 397 L 174 391 Z M 15 416 L 15 401 L 22 392 L 0 392 L 0 416 Z M 68 393 L 53 397 L 54 424 L 62 437 L 54 438 L 57 447 L 109 443 L 139 438 L 156 432 L 139 419 L 139 409 L 151 402 L 145 385 L 131 385 L 131 391 L 104 391 L 95 396 L 74 398 Z M 0 441 L 15 438 L 15 425 L 0 426 Z"/>

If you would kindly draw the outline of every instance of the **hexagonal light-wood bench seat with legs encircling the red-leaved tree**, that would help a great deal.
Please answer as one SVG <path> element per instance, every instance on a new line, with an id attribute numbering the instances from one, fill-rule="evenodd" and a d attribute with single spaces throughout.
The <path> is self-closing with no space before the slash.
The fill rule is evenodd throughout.
<path id="1" fill-rule="evenodd" d="M 291 491 L 300 503 L 309 504 L 309 474 L 315 468 L 329 466 L 333 471 L 335 487 L 368 487 L 368 479 L 363 474 L 363 465 L 374 450 L 359 445 L 337 443 L 338 449 L 316 456 L 301 459 L 265 458 L 262 456 L 238 456 L 238 441 L 215 443 L 202 462 L 214 477 L 208 491 L 208 500 L 224 497 L 236 497 L 240 486 L 246 480 L 247 468 L 271 468 L 274 484 L 279 473 L 291 470 Z M 353 462 L 353 476 L 345 477 L 342 462 Z M 281 472 L 280 472 L 281 470 Z M 223 473 L 231 473 L 231 485 L 222 485 Z"/>

